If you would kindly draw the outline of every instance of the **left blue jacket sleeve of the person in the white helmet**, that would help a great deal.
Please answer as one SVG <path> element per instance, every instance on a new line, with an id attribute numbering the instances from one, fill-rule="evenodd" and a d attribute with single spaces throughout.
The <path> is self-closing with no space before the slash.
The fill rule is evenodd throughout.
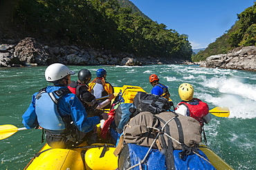
<path id="1" fill-rule="evenodd" d="M 26 129 L 33 129 L 38 126 L 37 115 L 35 114 L 35 94 L 32 97 L 32 101 L 28 109 L 22 115 L 22 118 L 22 123 Z"/>

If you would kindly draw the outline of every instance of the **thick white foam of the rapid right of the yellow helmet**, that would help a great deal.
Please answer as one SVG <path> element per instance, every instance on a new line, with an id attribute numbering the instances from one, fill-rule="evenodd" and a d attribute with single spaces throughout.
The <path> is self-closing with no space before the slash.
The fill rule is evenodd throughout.
<path id="1" fill-rule="evenodd" d="M 207 95 L 205 100 L 214 105 L 230 108 L 230 117 L 255 118 L 256 88 L 255 85 L 242 83 L 241 78 L 210 78 L 202 85 L 217 89 L 221 96 L 211 97 Z M 206 95 L 206 94 L 205 94 Z"/>

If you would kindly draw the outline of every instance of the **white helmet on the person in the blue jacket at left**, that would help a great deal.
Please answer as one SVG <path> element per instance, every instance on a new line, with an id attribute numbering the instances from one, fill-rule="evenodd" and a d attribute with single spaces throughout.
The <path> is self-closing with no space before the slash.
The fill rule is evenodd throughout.
<path id="1" fill-rule="evenodd" d="M 46 68 L 46 72 L 44 75 L 46 76 L 46 81 L 58 81 L 62 78 L 64 78 L 67 75 L 75 74 L 75 72 L 69 70 L 66 65 L 60 64 L 60 63 L 54 63 L 52 65 L 49 65 Z"/>

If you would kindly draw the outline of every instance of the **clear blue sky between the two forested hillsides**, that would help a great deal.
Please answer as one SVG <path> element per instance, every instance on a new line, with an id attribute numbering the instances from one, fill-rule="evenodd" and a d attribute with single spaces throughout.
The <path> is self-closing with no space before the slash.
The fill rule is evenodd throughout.
<path id="1" fill-rule="evenodd" d="M 254 0 L 130 0 L 147 17 L 187 34 L 192 49 L 207 47 L 229 30 Z"/>

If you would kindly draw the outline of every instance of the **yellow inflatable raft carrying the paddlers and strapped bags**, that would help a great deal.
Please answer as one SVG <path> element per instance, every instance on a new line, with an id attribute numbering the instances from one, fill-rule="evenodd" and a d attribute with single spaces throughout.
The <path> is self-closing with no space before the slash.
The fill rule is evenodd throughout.
<path id="1" fill-rule="evenodd" d="M 133 103 L 137 92 L 144 89 L 133 85 L 114 87 L 114 95 L 122 95 L 125 103 Z M 216 169 L 232 169 L 214 151 L 205 145 L 199 147 Z M 73 149 L 52 149 L 47 144 L 33 158 L 25 169 L 28 170 L 114 170 L 118 169 L 118 157 L 113 155 L 115 146 L 107 143 L 86 144 Z"/>

